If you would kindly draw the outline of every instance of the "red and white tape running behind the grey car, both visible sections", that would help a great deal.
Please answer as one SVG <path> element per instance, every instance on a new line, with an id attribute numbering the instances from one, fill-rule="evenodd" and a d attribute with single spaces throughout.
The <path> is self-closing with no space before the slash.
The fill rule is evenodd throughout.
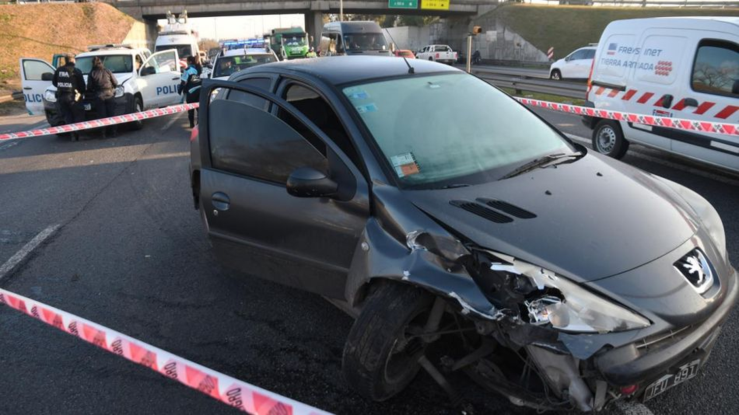
<path id="1" fill-rule="evenodd" d="M 706 133 L 717 133 L 726 135 L 739 136 L 739 124 L 734 123 L 716 123 L 713 121 L 687 120 L 684 118 L 659 117 L 656 115 L 635 114 L 632 112 L 612 111 L 608 109 L 595 109 L 587 106 L 576 106 L 564 103 L 553 103 L 550 101 L 534 100 L 531 98 L 516 97 L 520 103 L 531 106 L 540 106 L 547 109 L 554 109 L 559 112 L 569 112 L 570 114 L 587 115 L 589 117 L 607 118 L 609 120 L 625 121 L 627 123 L 638 123 L 647 126 L 658 126 L 675 128 L 678 130 L 701 131 Z M 113 124 L 130 123 L 137 120 L 146 120 L 147 118 L 162 117 L 163 115 L 175 114 L 177 112 L 196 109 L 198 103 L 180 104 L 168 106 L 159 109 L 150 109 L 148 111 L 134 112 L 132 114 L 117 115 L 115 117 L 101 118 L 100 120 L 84 121 L 82 123 L 67 124 L 66 126 L 39 128 L 30 131 L 19 131 L 16 133 L 0 134 L 0 141 L 13 140 L 25 137 L 38 137 L 48 134 L 61 134 L 70 131 L 81 131 L 89 128 L 98 128 L 103 126 L 112 126 Z"/>

